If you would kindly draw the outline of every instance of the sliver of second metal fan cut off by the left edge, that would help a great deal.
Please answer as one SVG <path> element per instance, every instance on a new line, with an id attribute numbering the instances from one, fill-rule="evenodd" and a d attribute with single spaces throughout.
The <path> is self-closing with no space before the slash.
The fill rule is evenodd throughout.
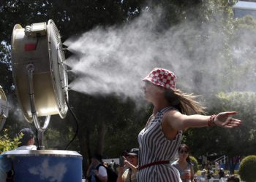
<path id="1" fill-rule="evenodd" d="M 7 97 L 4 94 L 4 90 L 0 86 L 0 131 L 4 127 L 4 123 L 7 119 L 9 112 Z"/>

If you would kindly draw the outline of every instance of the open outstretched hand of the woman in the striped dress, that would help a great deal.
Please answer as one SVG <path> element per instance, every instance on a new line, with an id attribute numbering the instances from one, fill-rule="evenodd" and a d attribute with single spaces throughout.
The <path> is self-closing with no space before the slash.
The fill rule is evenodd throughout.
<path id="1" fill-rule="evenodd" d="M 235 114 L 237 114 L 236 111 L 219 113 L 214 118 L 214 124 L 216 124 L 219 127 L 225 128 L 238 127 L 241 124 L 241 120 L 234 119 L 233 117 L 231 117 Z"/>

